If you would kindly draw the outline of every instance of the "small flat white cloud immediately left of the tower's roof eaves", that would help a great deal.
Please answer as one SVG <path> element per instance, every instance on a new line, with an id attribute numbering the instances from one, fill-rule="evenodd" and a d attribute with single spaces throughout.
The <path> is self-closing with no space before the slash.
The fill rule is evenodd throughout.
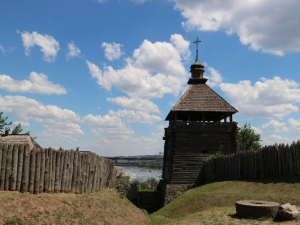
<path id="1" fill-rule="evenodd" d="M 141 111 L 133 110 L 109 110 L 109 114 L 112 116 L 125 117 L 128 123 L 148 123 L 152 124 L 157 121 L 161 121 L 161 118 L 156 115 L 150 115 Z"/>

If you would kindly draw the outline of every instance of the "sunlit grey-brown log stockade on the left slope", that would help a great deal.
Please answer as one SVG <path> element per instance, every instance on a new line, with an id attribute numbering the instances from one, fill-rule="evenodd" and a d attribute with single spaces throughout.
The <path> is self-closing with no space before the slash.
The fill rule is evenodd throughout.
<path id="1" fill-rule="evenodd" d="M 84 193 L 115 186 L 114 161 L 92 152 L 0 143 L 0 190 Z"/>

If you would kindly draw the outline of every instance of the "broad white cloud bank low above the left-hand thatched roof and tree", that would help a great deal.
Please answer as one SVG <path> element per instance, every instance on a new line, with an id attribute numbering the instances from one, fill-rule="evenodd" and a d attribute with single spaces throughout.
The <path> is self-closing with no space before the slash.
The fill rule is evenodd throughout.
<path id="1" fill-rule="evenodd" d="M 72 135 L 84 134 L 77 124 L 80 122 L 80 117 L 75 112 L 55 105 L 43 105 L 32 98 L 0 95 L 0 111 L 21 121 L 28 122 L 29 119 L 32 119 L 41 123 L 47 128 L 46 131 L 38 134 L 41 136 L 52 134 L 56 137 L 55 139 L 63 139 Z"/>

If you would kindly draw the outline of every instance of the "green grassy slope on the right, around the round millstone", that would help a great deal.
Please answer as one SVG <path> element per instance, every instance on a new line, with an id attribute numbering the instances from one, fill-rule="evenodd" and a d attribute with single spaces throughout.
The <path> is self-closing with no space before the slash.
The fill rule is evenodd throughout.
<path id="1" fill-rule="evenodd" d="M 275 201 L 300 206 L 300 177 L 224 181 L 191 189 L 151 217 L 155 224 L 261 224 L 236 218 L 235 202 L 243 199 Z M 263 224 L 272 223 L 265 219 Z M 280 224 L 300 224 L 299 220 Z"/>

